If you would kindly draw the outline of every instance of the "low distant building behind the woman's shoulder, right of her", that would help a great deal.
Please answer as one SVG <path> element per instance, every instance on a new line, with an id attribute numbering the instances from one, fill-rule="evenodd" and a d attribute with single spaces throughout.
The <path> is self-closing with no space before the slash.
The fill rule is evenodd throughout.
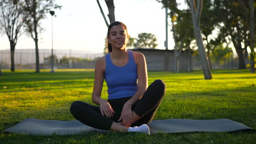
<path id="1" fill-rule="evenodd" d="M 159 49 L 130 49 L 143 53 L 146 57 L 147 68 L 152 71 L 174 71 L 174 50 L 159 50 Z M 193 70 L 192 52 L 182 51 L 179 56 L 179 70 Z"/>

